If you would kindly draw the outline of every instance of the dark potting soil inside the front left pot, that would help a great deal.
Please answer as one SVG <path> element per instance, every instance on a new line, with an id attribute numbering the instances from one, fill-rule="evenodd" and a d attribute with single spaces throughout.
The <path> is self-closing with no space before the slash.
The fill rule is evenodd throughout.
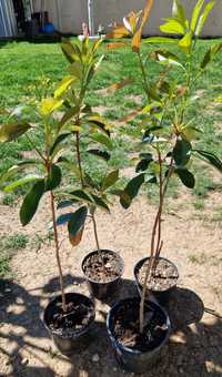
<path id="1" fill-rule="evenodd" d="M 93 306 L 88 306 L 81 302 L 68 303 L 67 312 L 62 309 L 60 302 L 54 303 L 49 328 L 62 336 L 71 336 L 73 333 L 82 332 L 92 322 L 94 317 Z"/>

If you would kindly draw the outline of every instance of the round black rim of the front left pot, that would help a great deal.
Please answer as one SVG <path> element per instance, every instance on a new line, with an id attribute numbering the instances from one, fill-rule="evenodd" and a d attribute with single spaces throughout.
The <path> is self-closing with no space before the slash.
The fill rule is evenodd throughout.
<path id="1" fill-rule="evenodd" d="M 47 304 L 47 306 L 46 306 L 44 309 L 43 309 L 43 318 L 42 318 L 43 325 L 44 325 L 44 327 L 47 328 L 47 330 L 48 330 L 50 334 L 52 334 L 52 335 L 57 335 L 57 336 L 61 336 L 62 338 L 71 339 L 71 338 L 73 338 L 73 337 L 79 337 L 79 336 L 85 334 L 85 333 L 89 330 L 89 328 L 91 328 L 91 326 L 93 325 L 94 318 L 95 318 L 95 306 L 94 306 L 93 300 L 92 300 L 90 297 L 88 297 L 88 296 L 85 296 L 85 295 L 82 295 L 81 293 L 77 293 L 77 292 L 68 292 L 68 293 L 65 293 L 64 295 L 65 295 L 65 296 L 67 296 L 67 295 L 72 295 L 72 296 L 75 296 L 75 297 L 77 297 L 77 296 L 79 296 L 79 297 L 84 297 L 84 298 L 89 299 L 89 303 L 91 303 L 91 305 L 92 305 L 92 307 L 93 307 L 93 316 L 92 316 L 91 322 L 88 324 L 88 326 L 85 326 L 85 327 L 84 327 L 83 329 L 81 329 L 80 332 L 73 332 L 72 334 L 62 335 L 62 334 L 58 334 L 57 330 L 52 330 L 52 329 L 48 326 L 47 320 L 46 320 L 46 313 L 47 313 L 49 306 L 50 306 L 51 304 L 53 304 L 53 302 L 58 300 L 59 297 L 62 297 L 62 295 L 60 294 L 60 295 L 54 296 L 54 297 Z"/>

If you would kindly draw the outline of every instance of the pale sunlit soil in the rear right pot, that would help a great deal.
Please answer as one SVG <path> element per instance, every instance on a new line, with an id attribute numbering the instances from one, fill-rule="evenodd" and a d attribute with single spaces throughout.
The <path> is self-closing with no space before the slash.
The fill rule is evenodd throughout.
<path id="1" fill-rule="evenodd" d="M 142 265 L 138 273 L 138 279 L 140 285 L 143 285 L 145 279 L 145 272 L 148 268 L 149 261 Z M 174 286 L 178 281 L 178 271 L 173 264 L 165 259 L 159 259 L 157 269 L 151 281 L 148 283 L 148 288 L 152 291 L 167 291 Z"/>

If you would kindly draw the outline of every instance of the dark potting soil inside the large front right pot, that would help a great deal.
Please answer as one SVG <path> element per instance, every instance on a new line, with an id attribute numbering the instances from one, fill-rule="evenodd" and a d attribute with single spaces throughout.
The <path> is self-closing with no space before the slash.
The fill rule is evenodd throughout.
<path id="1" fill-rule="evenodd" d="M 139 307 L 133 300 L 119 307 L 114 317 L 114 337 L 124 347 L 148 351 L 157 348 L 165 338 L 168 326 L 161 310 L 145 306 L 143 333 L 139 332 Z"/>

